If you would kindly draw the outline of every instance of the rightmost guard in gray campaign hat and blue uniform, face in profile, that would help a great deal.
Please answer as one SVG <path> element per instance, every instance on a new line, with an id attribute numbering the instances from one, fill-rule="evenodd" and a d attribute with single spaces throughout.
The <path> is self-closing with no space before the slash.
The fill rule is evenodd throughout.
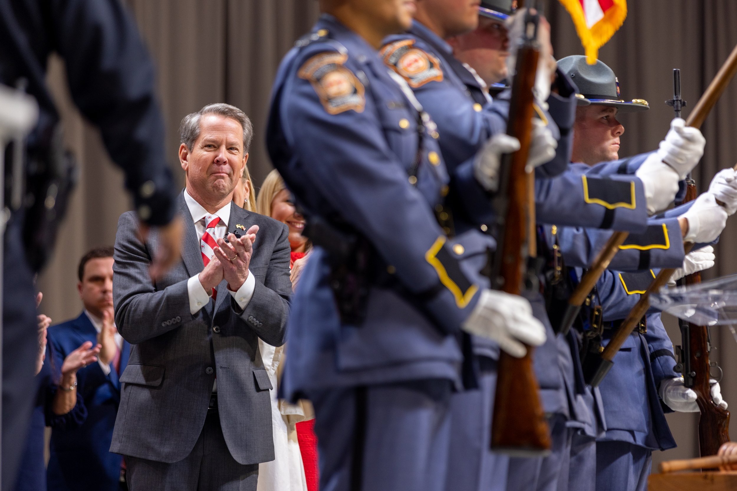
<path id="1" fill-rule="evenodd" d="M 617 112 L 642 111 L 646 107 L 638 108 L 638 102 L 624 102 L 618 98 L 619 94 L 615 92 L 618 90 L 615 75 L 601 61 L 589 66 L 585 57 L 568 57 L 560 60 L 559 66 L 577 80 L 579 88 L 583 87 L 581 92 L 592 101 L 592 105 L 579 110 L 576 117 L 573 159 L 584 164 L 609 159 L 612 164 L 608 167 L 616 168 L 619 173 L 642 172 L 648 166 L 660 164 L 668 156 L 675 158 L 668 159 L 669 161 L 692 161 L 695 164 L 699 160 L 703 139 L 695 128 L 689 128 L 688 133 L 691 134 L 678 134 L 682 129 L 680 120 L 671 125 L 671 132 L 661 142 L 657 152 L 617 161 L 619 136 L 624 133 L 624 127 L 616 120 Z M 681 140 L 695 140 L 693 147 L 675 150 L 673 142 L 679 140 L 676 135 L 682 136 Z M 679 156 L 681 159 L 678 159 Z M 574 168 L 578 166 L 581 164 L 573 165 Z M 597 167 L 601 169 L 607 166 L 598 164 Z M 675 172 L 679 171 L 674 170 Z M 727 196 L 724 199 L 732 201 Z M 579 328 L 585 328 L 581 332 L 581 352 L 584 356 L 598 355 L 599 347 L 607 343 L 621 319 L 634 307 L 639 293 L 643 293 L 654 279 L 655 271 L 649 270 L 651 266 L 680 265 L 684 237 L 685 240 L 698 243 L 713 240 L 719 234 L 726 221 L 726 212 L 714 209 L 710 202 L 709 197 L 699 198 L 694 203 L 669 210 L 649 220 L 646 233 L 628 237 L 612 261 L 612 266 L 618 265 L 630 271 L 644 271 L 623 273 L 610 269 L 599 279 L 590 297 L 590 308 L 584 309 L 584 316 L 579 324 Z M 718 217 L 720 214 L 724 215 L 721 219 Z M 703 227 L 699 226 L 700 223 Z M 576 254 L 572 254 L 572 251 L 581 248 L 581 238 L 587 237 L 587 234 L 601 234 L 601 231 L 572 230 L 570 227 L 558 229 L 556 245 L 559 246 L 566 265 L 570 266 L 575 261 Z M 587 237 L 583 242 L 586 240 L 601 245 L 601 240 Z M 597 251 L 600 248 L 598 245 L 593 245 Z M 696 268 L 706 267 L 708 261 L 701 259 L 703 254 L 702 251 L 689 254 L 684 268 L 688 265 L 691 268 L 688 271 L 690 273 L 696 271 Z M 578 274 L 580 276 L 580 269 Z M 577 342 L 574 346 L 578 350 Z M 660 322 L 660 316 L 648 316 L 647 321 L 626 341 L 623 352 L 615 358 L 615 366 L 593 392 L 596 398 L 594 411 L 600 414 L 598 411 L 603 410 L 606 433 L 599 433 L 604 428 L 586 426 L 573 435 L 570 489 L 590 490 L 594 486 L 597 490 L 644 489 L 649 473 L 649 452 L 652 451 L 644 449 L 648 445 L 663 449 L 674 446 L 663 410 L 657 402 L 656 389 L 660 380 L 672 379 L 672 356 L 672 344 Z M 578 375 L 578 386 L 582 386 L 582 375 L 580 372 Z M 594 403 L 593 398 L 587 401 L 592 405 Z M 600 441 L 594 446 L 595 436 Z M 640 446 L 630 447 L 635 442 L 639 442 Z M 623 450 L 626 451 L 623 453 Z M 602 467 L 606 469 L 603 473 L 600 472 Z"/>

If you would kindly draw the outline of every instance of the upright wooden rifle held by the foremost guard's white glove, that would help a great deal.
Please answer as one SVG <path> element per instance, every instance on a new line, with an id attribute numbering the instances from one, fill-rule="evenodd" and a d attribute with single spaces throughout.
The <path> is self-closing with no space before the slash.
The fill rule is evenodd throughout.
<path id="1" fill-rule="evenodd" d="M 534 289 L 537 277 L 527 271 L 531 244 L 530 223 L 534 223 L 534 206 L 529 199 L 529 178 L 525 170 L 531 142 L 534 95 L 532 88 L 537 74 L 539 44 L 537 26 L 539 14 L 528 10 L 525 29 L 511 88 L 507 134 L 520 141 L 520 150 L 503 156 L 500 165 L 500 190 L 494 200 L 497 209 L 497 243 L 494 267 L 489 279 L 492 288 L 519 295 L 523 279 L 528 289 Z M 532 250 L 534 252 L 534 249 Z M 526 254 L 525 254 L 526 253 Z M 526 276 L 526 277 L 525 277 Z M 532 348 L 527 347 L 523 358 L 513 358 L 501 352 L 497 365 L 497 388 L 492 419 L 492 450 L 517 456 L 545 455 L 551 448 L 551 437 L 539 386 L 532 369 Z"/>

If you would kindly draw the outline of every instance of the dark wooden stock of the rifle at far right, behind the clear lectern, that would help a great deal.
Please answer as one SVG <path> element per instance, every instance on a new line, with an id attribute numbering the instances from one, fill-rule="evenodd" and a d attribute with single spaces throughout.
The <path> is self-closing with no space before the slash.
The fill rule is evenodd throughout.
<path id="1" fill-rule="evenodd" d="M 683 203 L 696 199 L 696 183 L 689 179 Z M 701 273 L 689 274 L 682 279 L 682 285 L 701 283 Z M 699 450 L 702 456 L 714 455 L 719 448 L 730 441 L 730 411 L 716 405 L 710 391 L 710 338 L 709 328 L 697 326 L 680 319 L 681 355 L 680 363 L 685 386 L 696 392 L 699 405 Z M 688 357 L 688 360 L 686 359 Z"/>

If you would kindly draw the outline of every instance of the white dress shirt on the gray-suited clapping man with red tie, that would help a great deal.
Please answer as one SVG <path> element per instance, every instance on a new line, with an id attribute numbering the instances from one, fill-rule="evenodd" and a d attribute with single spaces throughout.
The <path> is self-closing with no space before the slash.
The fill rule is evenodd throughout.
<path id="1" fill-rule="evenodd" d="M 189 192 L 187 192 L 186 189 L 184 189 L 184 201 L 186 202 L 187 208 L 189 208 L 189 213 L 192 215 L 192 220 L 195 222 L 198 245 L 200 244 L 200 240 L 202 240 L 202 234 L 205 233 L 206 223 L 204 223 L 203 218 L 207 216 L 220 217 L 220 223 L 215 226 L 214 237 L 212 238 L 217 240 L 226 237 L 226 234 L 228 234 L 228 220 L 230 219 L 230 208 L 233 204 L 232 201 L 229 201 L 226 206 L 223 206 L 223 208 L 220 208 L 214 213 L 207 212 L 200 203 L 195 201 L 195 198 L 192 198 L 192 196 L 189 195 Z M 202 283 L 200 283 L 199 276 L 199 274 L 195 274 L 195 276 L 192 276 L 186 284 L 187 292 L 189 293 L 189 312 L 192 313 L 193 316 L 210 301 L 212 293 L 205 290 Z M 238 291 L 231 291 L 230 288 L 227 288 L 227 290 L 228 293 L 233 296 L 241 310 L 243 310 L 248 305 L 248 302 L 251 302 L 251 297 L 254 296 L 254 290 L 256 290 L 256 279 L 254 279 L 254 275 L 249 270 L 248 278 L 243 282 L 243 285 L 238 289 Z"/>

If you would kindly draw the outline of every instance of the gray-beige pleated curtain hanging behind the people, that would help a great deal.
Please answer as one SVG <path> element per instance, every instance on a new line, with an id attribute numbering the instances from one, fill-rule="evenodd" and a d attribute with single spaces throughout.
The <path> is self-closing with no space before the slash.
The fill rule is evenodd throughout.
<path id="1" fill-rule="evenodd" d="M 228 102 L 254 121 L 256 137 L 248 161 L 259 185 L 270 170 L 264 148 L 270 87 L 279 60 L 317 18 L 314 0 L 127 0 L 158 66 L 158 88 L 167 125 L 168 150 L 178 184 L 178 125 L 209 102 Z M 583 54 L 573 24 L 556 0 L 545 0 L 556 56 Z M 682 70 L 685 115 L 696 104 L 728 53 L 737 44 L 737 2 L 733 0 L 630 0 L 629 15 L 600 58 L 618 74 L 622 95 L 649 100 L 651 110 L 624 115 L 621 156 L 653 150 L 668 130 L 672 69 Z M 41 276 L 41 310 L 54 321 L 77 316 L 77 261 L 94 245 L 112 244 L 119 215 L 130 209 L 122 173 L 111 164 L 99 134 L 69 102 L 63 63 L 52 59 L 49 81 L 66 122 L 66 137 L 80 163 L 80 185 L 63 224 L 54 259 Z M 737 161 L 737 80 L 724 94 L 702 130 L 707 147 L 694 173 L 699 189 L 717 170 Z M 716 248 L 716 267 L 706 278 L 737 272 L 737 220 L 727 226 Z M 668 316 L 666 316 L 668 317 Z M 673 318 L 671 338 L 680 344 Z M 737 410 L 737 343 L 730 332 L 713 330 L 713 357 L 724 369 L 722 394 Z M 679 447 L 656 453 L 663 458 L 696 456 L 695 414 L 671 414 L 668 421 Z M 737 438 L 737 426 L 733 428 Z"/>

